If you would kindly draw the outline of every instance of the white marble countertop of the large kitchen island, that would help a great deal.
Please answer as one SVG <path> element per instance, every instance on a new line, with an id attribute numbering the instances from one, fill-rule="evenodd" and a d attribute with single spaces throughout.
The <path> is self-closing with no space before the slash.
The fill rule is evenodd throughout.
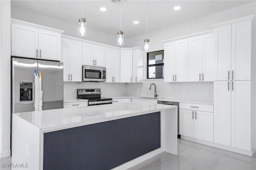
<path id="1" fill-rule="evenodd" d="M 176 108 L 176 106 L 149 102 L 129 102 L 117 103 L 116 105 L 96 105 L 90 107 L 14 113 L 14 116 L 18 116 L 43 132 L 50 132 L 143 115 L 146 113 L 154 113 L 172 108 Z"/>

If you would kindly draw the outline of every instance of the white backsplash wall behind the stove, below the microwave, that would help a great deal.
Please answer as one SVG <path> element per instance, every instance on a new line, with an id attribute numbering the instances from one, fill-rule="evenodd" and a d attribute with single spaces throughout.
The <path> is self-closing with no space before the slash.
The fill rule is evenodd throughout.
<path id="1" fill-rule="evenodd" d="M 105 83 L 105 82 L 64 82 L 64 101 L 76 99 L 76 89 L 100 88 L 102 97 L 118 97 L 126 95 L 125 83 Z M 108 92 L 110 89 L 110 92 Z"/>

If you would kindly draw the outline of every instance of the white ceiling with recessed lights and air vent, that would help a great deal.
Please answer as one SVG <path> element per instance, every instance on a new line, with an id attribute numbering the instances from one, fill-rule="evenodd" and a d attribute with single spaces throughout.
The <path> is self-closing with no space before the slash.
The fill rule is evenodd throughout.
<path id="1" fill-rule="evenodd" d="M 254 0 L 255 1 L 255 0 Z M 148 0 L 148 32 L 166 28 L 253 1 L 247 0 Z M 11 6 L 78 24 L 86 17 L 88 28 L 116 35 L 120 30 L 118 4 L 110 0 L 12 0 Z M 178 11 L 174 6 L 181 6 Z M 82 16 L 82 7 L 83 13 Z M 106 7 L 107 11 L 100 11 Z M 146 33 L 146 0 L 128 0 L 121 5 L 121 30 L 125 38 Z M 135 25 L 133 21 L 140 23 Z"/>

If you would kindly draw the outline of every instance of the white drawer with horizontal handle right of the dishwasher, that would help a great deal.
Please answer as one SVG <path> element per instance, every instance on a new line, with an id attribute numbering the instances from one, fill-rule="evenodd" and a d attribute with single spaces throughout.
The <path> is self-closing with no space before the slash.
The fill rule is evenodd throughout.
<path id="1" fill-rule="evenodd" d="M 205 111 L 213 112 L 213 105 L 202 105 L 194 103 L 179 103 L 180 109 L 193 110 L 193 111 Z"/>

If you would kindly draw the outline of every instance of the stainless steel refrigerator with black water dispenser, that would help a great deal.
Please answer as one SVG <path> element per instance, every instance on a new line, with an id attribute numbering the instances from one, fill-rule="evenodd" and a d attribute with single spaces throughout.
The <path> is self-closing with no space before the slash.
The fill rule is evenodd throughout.
<path id="1" fill-rule="evenodd" d="M 34 111 L 34 70 L 42 74 L 42 110 L 63 108 L 63 63 L 12 58 L 12 113 Z"/>

